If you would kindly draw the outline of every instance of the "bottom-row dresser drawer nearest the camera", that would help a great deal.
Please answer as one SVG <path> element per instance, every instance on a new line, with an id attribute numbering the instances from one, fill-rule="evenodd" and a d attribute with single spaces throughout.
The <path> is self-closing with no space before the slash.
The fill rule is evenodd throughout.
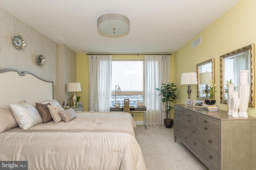
<path id="1" fill-rule="evenodd" d="M 204 159 L 213 169 L 220 169 L 220 156 L 218 153 L 214 152 L 204 144 L 200 142 L 200 139 L 190 136 L 190 147 L 201 155 L 201 158 Z"/>

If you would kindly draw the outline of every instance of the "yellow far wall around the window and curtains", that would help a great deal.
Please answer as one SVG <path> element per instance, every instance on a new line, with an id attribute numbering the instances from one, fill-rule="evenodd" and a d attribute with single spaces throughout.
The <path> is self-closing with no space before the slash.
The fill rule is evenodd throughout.
<path id="1" fill-rule="evenodd" d="M 144 55 L 112 55 L 112 59 L 144 59 Z M 171 82 L 174 81 L 174 57 L 170 57 Z M 89 59 L 86 54 L 76 55 L 76 81 L 80 82 L 82 92 L 77 92 L 80 101 L 84 105 L 84 111 L 89 111 Z M 134 113 L 135 121 L 143 121 L 143 112 Z"/>

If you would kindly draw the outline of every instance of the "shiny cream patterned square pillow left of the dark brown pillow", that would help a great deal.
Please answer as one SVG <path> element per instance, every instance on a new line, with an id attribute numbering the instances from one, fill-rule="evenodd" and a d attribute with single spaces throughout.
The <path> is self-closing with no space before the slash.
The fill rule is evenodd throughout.
<path id="1" fill-rule="evenodd" d="M 42 123 L 42 118 L 32 104 L 10 104 L 12 114 L 21 129 L 29 129 Z"/>

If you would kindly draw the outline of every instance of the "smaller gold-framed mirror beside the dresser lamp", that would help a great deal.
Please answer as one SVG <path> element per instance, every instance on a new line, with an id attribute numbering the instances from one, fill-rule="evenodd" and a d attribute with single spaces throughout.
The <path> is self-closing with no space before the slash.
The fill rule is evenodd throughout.
<path id="1" fill-rule="evenodd" d="M 197 74 L 197 99 L 206 99 L 206 88 L 210 80 L 214 79 L 214 59 L 203 61 L 196 64 Z M 215 98 L 215 97 L 214 97 Z"/>

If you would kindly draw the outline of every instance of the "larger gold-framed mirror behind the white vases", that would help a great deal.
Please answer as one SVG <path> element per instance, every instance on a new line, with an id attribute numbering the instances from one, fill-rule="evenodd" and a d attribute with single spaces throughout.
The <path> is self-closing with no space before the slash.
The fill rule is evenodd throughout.
<path id="1" fill-rule="evenodd" d="M 255 107 L 254 100 L 254 44 L 247 45 L 230 53 L 220 56 L 220 103 L 227 103 L 228 81 L 234 83 L 238 90 L 240 70 L 248 70 L 248 83 L 250 85 L 249 107 Z"/>

